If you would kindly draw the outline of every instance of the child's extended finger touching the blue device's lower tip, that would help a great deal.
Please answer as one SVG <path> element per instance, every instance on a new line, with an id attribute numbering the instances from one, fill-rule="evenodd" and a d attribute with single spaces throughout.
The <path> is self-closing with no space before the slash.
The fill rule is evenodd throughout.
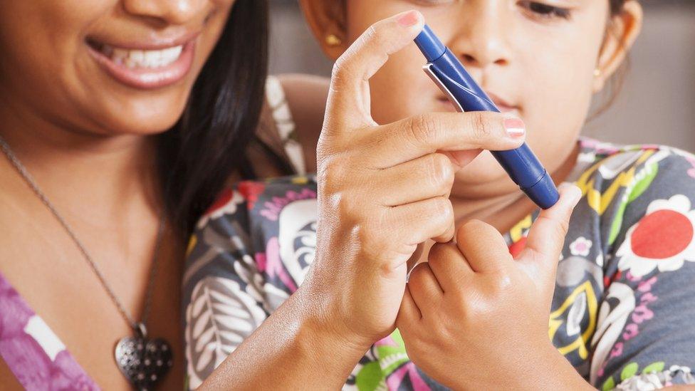
<path id="1" fill-rule="evenodd" d="M 558 189 L 560 200 L 550 209 L 540 212 L 528 231 L 526 249 L 519 256 L 521 262 L 540 262 L 540 270 L 554 271 L 560 251 L 565 244 L 570 216 L 582 197 L 573 184 L 562 184 Z"/>

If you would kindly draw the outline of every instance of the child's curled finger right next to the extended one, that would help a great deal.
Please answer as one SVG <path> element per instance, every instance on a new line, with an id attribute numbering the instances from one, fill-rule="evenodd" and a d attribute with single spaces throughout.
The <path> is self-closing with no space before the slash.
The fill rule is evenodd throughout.
<path id="1" fill-rule="evenodd" d="M 502 235 L 483 221 L 467 221 L 456 232 L 456 241 L 461 254 L 476 272 L 498 271 L 512 261 Z"/>

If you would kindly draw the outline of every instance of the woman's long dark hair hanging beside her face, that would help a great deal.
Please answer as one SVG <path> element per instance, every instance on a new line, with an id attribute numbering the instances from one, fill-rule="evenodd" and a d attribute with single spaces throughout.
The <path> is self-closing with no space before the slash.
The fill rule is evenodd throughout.
<path id="1" fill-rule="evenodd" d="M 237 0 L 182 117 L 157 136 L 164 208 L 188 236 L 231 174 L 244 170 L 263 105 L 268 1 Z"/>

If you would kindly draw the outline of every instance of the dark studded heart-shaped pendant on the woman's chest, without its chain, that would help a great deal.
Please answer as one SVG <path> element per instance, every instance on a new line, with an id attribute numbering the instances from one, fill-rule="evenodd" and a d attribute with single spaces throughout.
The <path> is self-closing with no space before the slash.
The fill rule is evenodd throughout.
<path id="1" fill-rule="evenodd" d="M 174 355 L 162 338 L 150 340 L 145 333 L 138 334 L 118 341 L 116 364 L 137 390 L 152 390 L 174 365 Z"/>

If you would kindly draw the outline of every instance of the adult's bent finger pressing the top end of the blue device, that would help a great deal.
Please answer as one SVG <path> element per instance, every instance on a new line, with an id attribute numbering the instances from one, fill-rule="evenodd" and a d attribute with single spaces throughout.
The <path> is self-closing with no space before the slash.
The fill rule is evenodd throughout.
<path id="1" fill-rule="evenodd" d="M 348 128 L 374 125 L 370 115 L 369 84 L 367 83 L 384 66 L 389 56 L 412 43 L 424 26 L 424 18 L 418 11 L 406 11 L 372 24 L 352 43 L 333 66 L 328 93 L 328 108 L 337 110 L 340 120 Z"/>

